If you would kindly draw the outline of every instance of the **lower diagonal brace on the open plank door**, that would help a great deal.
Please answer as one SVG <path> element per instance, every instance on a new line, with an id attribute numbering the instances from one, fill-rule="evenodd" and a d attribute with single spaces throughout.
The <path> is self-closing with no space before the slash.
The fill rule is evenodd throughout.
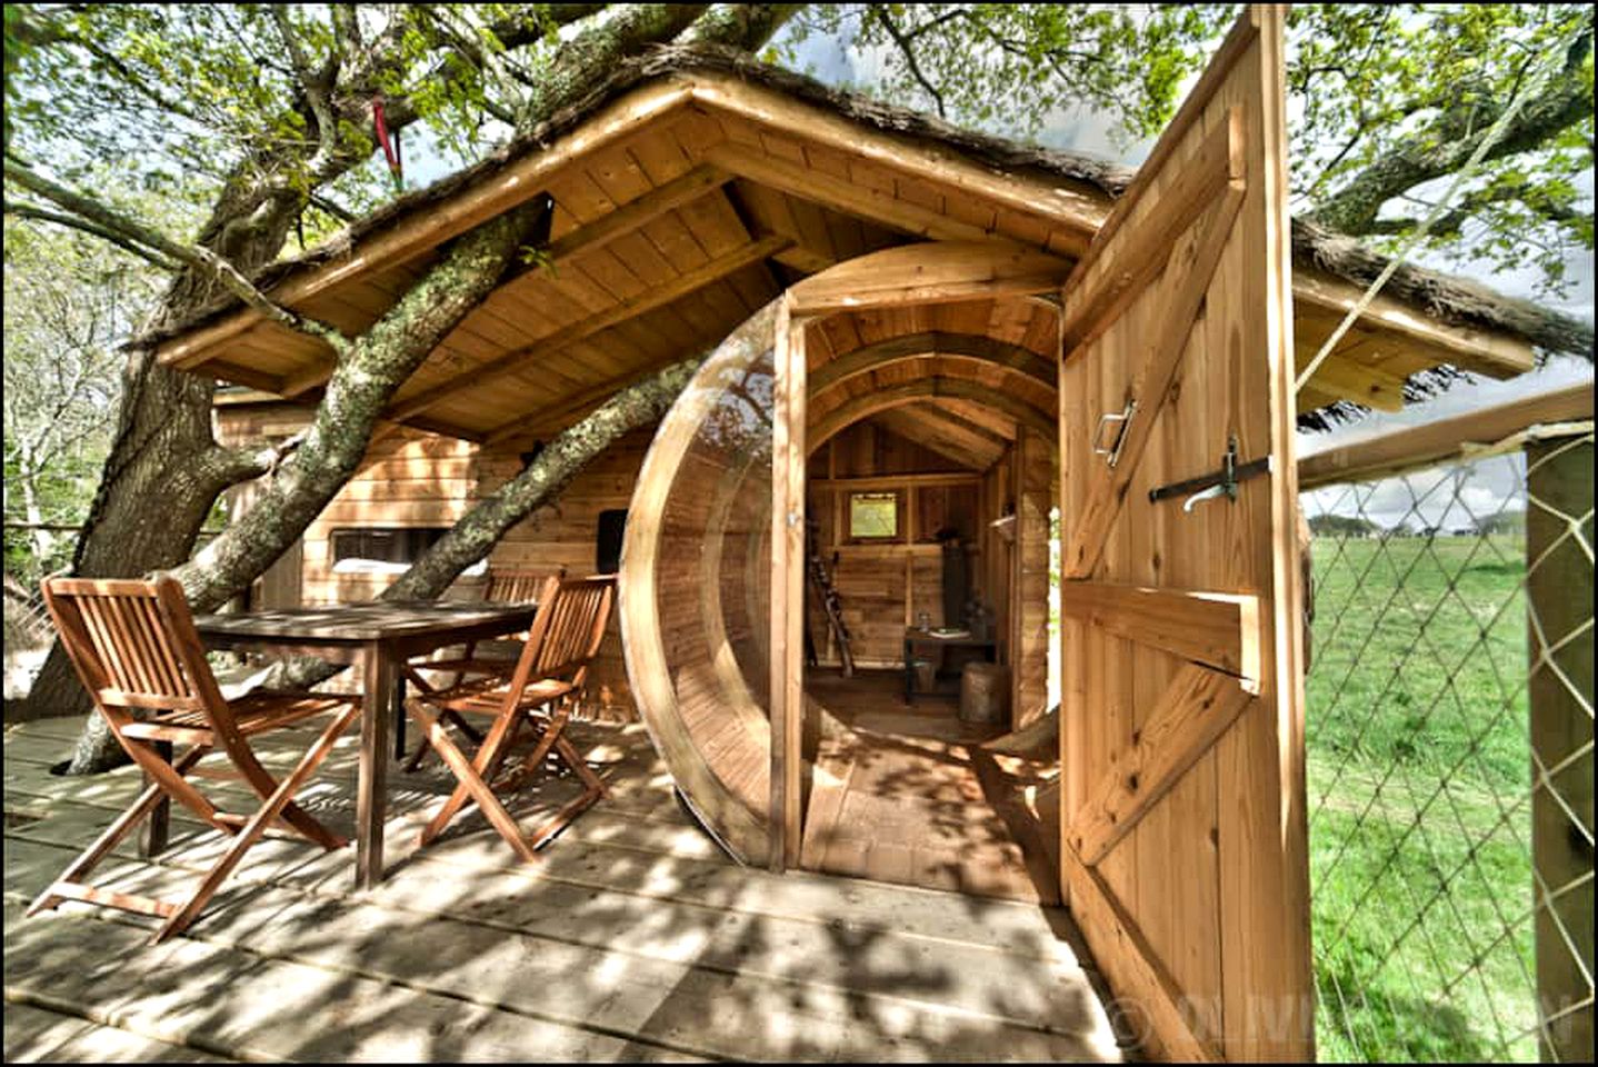
<path id="1" fill-rule="evenodd" d="M 1088 792 L 1066 831 L 1082 863 L 1096 866 L 1139 819 L 1210 751 L 1253 700 L 1235 677 L 1186 664 L 1165 687 L 1136 743 Z"/>

